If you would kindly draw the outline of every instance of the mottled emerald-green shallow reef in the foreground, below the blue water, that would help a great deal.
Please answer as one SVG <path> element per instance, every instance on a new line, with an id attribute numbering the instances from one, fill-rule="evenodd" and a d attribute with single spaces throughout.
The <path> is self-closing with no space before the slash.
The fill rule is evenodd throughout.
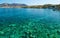
<path id="1" fill-rule="evenodd" d="M 28 20 L 0 23 L 0 38 L 60 38 L 60 24 Z"/>

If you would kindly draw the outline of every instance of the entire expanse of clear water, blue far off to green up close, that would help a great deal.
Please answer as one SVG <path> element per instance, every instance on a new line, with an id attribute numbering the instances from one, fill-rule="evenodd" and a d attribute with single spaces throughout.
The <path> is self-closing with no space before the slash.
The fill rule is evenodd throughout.
<path id="1" fill-rule="evenodd" d="M 60 11 L 0 8 L 0 38 L 60 38 Z"/>

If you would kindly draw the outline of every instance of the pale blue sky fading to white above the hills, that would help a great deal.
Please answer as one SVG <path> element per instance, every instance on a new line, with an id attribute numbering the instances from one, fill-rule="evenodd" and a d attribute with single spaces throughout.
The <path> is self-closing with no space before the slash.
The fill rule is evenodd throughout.
<path id="1" fill-rule="evenodd" d="M 60 4 L 60 0 L 0 0 L 0 3 L 20 3 L 27 5 Z"/>

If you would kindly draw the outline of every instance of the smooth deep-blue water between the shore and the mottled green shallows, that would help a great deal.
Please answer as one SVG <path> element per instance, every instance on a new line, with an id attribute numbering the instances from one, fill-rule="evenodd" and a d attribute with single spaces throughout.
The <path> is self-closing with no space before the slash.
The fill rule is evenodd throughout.
<path id="1" fill-rule="evenodd" d="M 60 23 L 60 12 L 52 9 L 0 8 L 0 10 L 1 20 L 35 19 L 45 23 Z"/>

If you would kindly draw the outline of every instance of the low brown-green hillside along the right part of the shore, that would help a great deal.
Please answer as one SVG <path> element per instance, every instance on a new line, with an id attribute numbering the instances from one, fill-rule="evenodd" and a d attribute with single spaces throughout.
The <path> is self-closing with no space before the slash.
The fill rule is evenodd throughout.
<path id="1" fill-rule="evenodd" d="M 59 9 L 60 4 L 58 4 L 58 5 L 52 5 L 52 4 L 35 5 L 35 6 L 26 6 L 24 8 L 55 8 L 55 9 Z"/>

